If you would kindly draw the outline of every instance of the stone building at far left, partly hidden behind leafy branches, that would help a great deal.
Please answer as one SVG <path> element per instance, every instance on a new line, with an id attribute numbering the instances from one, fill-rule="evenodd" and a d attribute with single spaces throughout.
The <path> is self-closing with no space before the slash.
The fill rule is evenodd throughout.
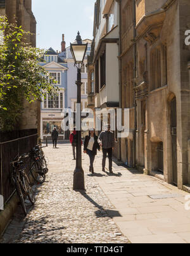
<path id="1" fill-rule="evenodd" d="M 3 1 L 1 1 L 3 2 Z M 1 3 L 0 3 L 1 4 Z M 9 23 L 16 21 L 22 29 L 32 33 L 27 35 L 26 42 L 30 43 L 33 47 L 36 46 L 36 21 L 32 13 L 32 0 L 6 0 L 4 4 L 4 13 L 8 17 Z M 1 9 L 0 9 L 1 10 Z M 25 108 L 23 116 L 20 120 L 20 129 L 38 129 L 40 135 L 41 131 L 41 103 L 28 103 L 24 101 Z"/>

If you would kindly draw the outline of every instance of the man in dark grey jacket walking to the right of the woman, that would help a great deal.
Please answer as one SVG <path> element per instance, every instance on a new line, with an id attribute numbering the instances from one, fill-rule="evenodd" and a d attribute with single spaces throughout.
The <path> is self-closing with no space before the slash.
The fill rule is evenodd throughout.
<path id="1" fill-rule="evenodd" d="M 114 134 L 110 131 L 111 126 L 109 124 L 106 125 L 106 131 L 101 132 L 98 138 L 98 143 L 100 146 L 102 146 L 103 150 L 103 160 L 102 160 L 102 170 L 105 172 L 105 166 L 106 166 L 106 155 L 108 153 L 109 158 L 109 170 L 110 174 L 112 174 L 112 153 L 114 149 Z"/>

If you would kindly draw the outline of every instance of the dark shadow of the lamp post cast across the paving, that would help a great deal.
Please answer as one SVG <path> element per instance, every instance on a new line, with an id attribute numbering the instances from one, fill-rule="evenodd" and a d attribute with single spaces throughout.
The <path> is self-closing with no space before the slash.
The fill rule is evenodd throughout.
<path id="1" fill-rule="evenodd" d="M 98 203 L 96 203 L 91 198 L 91 196 L 89 196 L 89 195 L 87 195 L 87 193 L 85 193 L 85 191 L 80 190 L 78 192 L 80 192 L 80 194 L 82 196 L 84 196 L 89 202 L 91 202 L 96 208 L 99 209 L 96 212 L 94 212 L 96 214 L 97 218 L 109 217 L 110 219 L 113 219 L 113 217 L 122 217 L 120 212 L 118 212 L 117 210 L 108 210 L 108 209 L 105 209 L 102 205 L 99 205 Z"/>

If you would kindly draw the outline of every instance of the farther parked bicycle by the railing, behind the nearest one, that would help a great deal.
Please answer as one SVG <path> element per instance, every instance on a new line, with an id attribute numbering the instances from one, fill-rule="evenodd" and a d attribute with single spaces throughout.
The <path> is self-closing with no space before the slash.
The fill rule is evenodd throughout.
<path id="1" fill-rule="evenodd" d="M 48 172 L 47 162 L 42 151 L 42 147 L 37 145 L 29 152 L 30 155 L 30 173 L 37 183 L 44 183 L 46 181 L 46 174 Z"/>

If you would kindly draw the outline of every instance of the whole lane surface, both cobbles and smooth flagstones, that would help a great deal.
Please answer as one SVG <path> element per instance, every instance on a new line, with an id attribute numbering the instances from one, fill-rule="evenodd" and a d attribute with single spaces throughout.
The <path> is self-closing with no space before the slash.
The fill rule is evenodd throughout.
<path id="1" fill-rule="evenodd" d="M 15 214 L 3 243 L 190 243 L 188 193 L 120 163 L 113 163 L 114 174 L 105 174 L 101 152 L 93 177 L 82 155 L 86 192 L 76 192 L 70 144 L 49 145 L 44 152 L 47 180 L 37 186 L 27 217 Z"/>

